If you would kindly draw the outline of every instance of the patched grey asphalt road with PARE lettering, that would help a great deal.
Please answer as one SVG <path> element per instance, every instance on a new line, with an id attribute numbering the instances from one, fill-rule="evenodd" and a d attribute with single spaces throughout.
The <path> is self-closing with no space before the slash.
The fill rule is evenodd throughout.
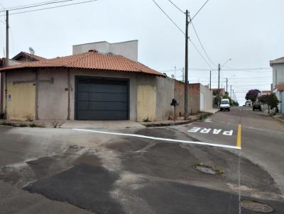
<path id="1" fill-rule="evenodd" d="M 240 124 L 242 149 L 222 147 L 237 145 Z M 0 213 L 254 213 L 239 197 L 284 213 L 284 125 L 273 118 L 233 108 L 115 133 L 0 127 Z"/>

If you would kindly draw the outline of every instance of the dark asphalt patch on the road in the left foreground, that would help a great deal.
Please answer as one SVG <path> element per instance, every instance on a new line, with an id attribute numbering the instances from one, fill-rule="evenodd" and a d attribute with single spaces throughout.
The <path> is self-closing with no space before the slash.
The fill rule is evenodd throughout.
<path id="1" fill-rule="evenodd" d="M 23 190 L 40 193 L 56 201 L 67 201 L 96 213 L 124 213 L 120 203 L 109 196 L 119 175 L 104 167 L 79 164 L 45 179 L 35 181 Z"/>

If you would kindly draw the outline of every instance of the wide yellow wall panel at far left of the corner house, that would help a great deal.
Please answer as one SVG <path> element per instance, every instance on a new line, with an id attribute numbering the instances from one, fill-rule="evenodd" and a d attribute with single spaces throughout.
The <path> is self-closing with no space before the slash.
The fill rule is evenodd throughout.
<path id="1" fill-rule="evenodd" d="M 35 118 L 35 86 L 33 83 L 8 84 L 7 113 L 9 120 Z M 11 95 L 11 100 L 9 99 Z"/>

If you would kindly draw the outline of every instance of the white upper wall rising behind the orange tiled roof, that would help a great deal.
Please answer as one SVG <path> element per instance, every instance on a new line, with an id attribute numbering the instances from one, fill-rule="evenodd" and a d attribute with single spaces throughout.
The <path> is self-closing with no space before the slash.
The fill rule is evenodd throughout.
<path id="1" fill-rule="evenodd" d="M 138 61 L 138 40 L 126 41 L 122 43 L 108 43 L 106 41 L 99 43 L 87 43 L 82 45 L 73 45 L 73 55 L 97 50 L 98 52 L 114 55 L 122 55 L 135 62 Z"/>

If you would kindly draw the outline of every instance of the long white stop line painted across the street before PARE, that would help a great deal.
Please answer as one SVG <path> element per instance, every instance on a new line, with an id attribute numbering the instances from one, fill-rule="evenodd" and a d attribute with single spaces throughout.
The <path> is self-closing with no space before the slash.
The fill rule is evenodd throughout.
<path id="1" fill-rule="evenodd" d="M 170 138 L 151 137 L 151 136 L 146 136 L 146 135 L 134 135 L 134 134 L 126 134 L 126 133 L 111 133 L 111 132 L 80 129 L 80 128 L 73 128 L 72 130 L 81 131 L 81 132 L 89 132 L 89 133 L 97 133 L 97 134 L 103 134 L 103 135 L 119 135 L 119 136 L 139 137 L 139 138 L 144 138 L 144 139 L 161 140 L 161 141 L 168 141 L 168 142 L 182 142 L 182 143 L 195 144 L 195 145 L 224 147 L 224 148 L 236 149 L 236 150 L 241 149 L 241 147 L 234 147 L 234 146 L 230 146 L 230 145 L 214 144 L 214 143 L 207 143 L 207 142 L 195 142 L 195 141 L 188 141 L 188 140 L 175 140 L 175 139 L 170 139 Z"/>

